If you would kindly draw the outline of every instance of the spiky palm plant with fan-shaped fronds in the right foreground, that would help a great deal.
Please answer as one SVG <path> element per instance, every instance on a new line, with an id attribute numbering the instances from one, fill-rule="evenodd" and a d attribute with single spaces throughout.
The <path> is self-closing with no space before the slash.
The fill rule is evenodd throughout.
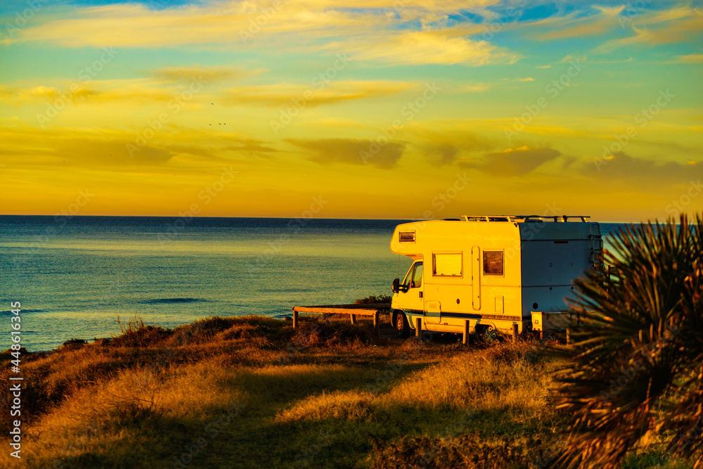
<path id="1" fill-rule="evenodd" d="M 573 416 L 559 463 L 612 468 L 655 435 L 703 467 L 703 218 L 630 225 L 576 281 L 574 346 L 557 372 Z"/>

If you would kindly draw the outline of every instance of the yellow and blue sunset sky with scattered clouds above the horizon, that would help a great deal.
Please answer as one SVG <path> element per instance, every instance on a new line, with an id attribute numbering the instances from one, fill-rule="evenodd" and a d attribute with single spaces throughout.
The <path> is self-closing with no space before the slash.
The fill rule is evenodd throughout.
<path id="1" fill-rule="evenodd" d="M 0 214 L 701 212 L 702 39 L 702 1 L 3 1 Z"/>

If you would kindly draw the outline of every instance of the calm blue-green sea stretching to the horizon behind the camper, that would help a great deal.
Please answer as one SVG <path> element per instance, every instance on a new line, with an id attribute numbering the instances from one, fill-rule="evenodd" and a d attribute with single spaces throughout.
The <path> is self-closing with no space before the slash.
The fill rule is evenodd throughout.
<path id="1" fill-rule="evenodd" d="M 134 319 L 285 318 L 294 306 L 390 295 L 411 264 L 389 250 L 406 221 L 0 216 L 0 350 L 14 302 L 21 345 L 37 352 L 115 337 Z M 601 224 L 606 247 L 617 226 Z"/>

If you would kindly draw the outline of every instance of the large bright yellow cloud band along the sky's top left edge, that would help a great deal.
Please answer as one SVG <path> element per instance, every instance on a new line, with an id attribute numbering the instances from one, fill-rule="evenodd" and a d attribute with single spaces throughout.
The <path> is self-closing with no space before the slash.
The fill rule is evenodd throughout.
<path id="1" fill-rule="evenodd" d="M 266 37 L 295 34 L 301 39 L 368 36 L 411 22 L 425 27 L 466 8 L 460 1 L 213 1 L 150 10 L 140 4 L 89 6 L 67 10 L 70 18 L 20 30 L 13 41 L 51 41 L 63 46 L 164 47 L 239 44 L 247 48 Z M 65 15 L 65 11 L 60 12 Z M 52 15 L 50 18 L 56 18 Z M 266 44 L 269 46 L 270 44 Z M 280 47 L 280 40 L 276 41 Z"/>

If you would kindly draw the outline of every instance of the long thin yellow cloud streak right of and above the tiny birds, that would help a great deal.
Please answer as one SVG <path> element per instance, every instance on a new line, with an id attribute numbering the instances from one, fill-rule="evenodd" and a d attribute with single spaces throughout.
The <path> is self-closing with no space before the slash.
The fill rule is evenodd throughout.
<path id="1" fill-rule="evenodd" d="M 327 80 L 330 82 L 330 80 Z M 337 104 L 361 99 L 382 98 L 398 94 L 416 85 L 411 82 L 344 80 L 326 85 L 321 79 L 310 85 L 271 84 L 241 86 L 228 89 L 221 101 L 231 105 L 264 105 L 278 108 L 295 103 L 314 108 L 323 104 Z"/>

